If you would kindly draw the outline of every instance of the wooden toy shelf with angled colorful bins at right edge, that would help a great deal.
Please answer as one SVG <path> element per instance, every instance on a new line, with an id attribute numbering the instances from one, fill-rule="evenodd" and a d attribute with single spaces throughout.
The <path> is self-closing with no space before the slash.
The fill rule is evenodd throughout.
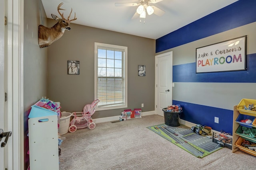
<path id="1" fill-rule="evenodd" d="M 232 140 L 232 152 L 236 152 L 237 150 L 242 150 L 248 154 L 252 154 L 254 156 L 256 156 L 256 152 L 250 149 L 246 149 L 245 147 L 240 146 L 240 144 L 244 141 L 244 140 L 248 140 L 248 141 L 252 141 L 254 143 L 256 143 L 256 138 L 252 138 L 246 135 L 242 135 L 241 133 L 238 133 L 238 131 L 240 129 L 240 125 L 245 126 L 245 127 L 250 127 L 256 128 L 256 112 L 255 111 L 250 111 L 250 110 L 242 110 L 240 111 L 240 109 L 238 109 L 239 105 L 234 106 L 234 110 L 233 110 L 233 140 Z M 249 116 L 254 118 L 254 121 L 250 124 L 245 124 L 245 123 L 241 123 L 238 119 L 239 116 L 244 115 L 244 116 Z"/>

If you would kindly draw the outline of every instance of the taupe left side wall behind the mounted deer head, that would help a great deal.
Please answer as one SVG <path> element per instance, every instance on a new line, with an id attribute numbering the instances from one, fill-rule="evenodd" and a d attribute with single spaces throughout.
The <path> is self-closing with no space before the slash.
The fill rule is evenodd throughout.
<path id="1" fill-rule="evenodd" d="M 47 96 L 47 49 L 38 46 L 38 25 L 47 25 L 41 0 L 24 0 L 24 169 L 29 165 L 28 114 Z"/>

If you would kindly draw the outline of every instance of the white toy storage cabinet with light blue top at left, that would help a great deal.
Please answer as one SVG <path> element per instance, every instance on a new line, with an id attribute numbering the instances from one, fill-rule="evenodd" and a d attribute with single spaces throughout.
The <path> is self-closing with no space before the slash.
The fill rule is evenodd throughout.
<path id="1" fill-rule="evenodd" d="M 30 170 L 59 170 L 58 113 L 38 105 L 28 116 Z"/>

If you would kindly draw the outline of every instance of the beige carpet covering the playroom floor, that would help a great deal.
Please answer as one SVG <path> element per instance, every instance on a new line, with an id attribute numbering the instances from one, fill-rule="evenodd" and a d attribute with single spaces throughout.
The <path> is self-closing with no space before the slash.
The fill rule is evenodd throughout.
<path id="1" fill-rule="evenodd" d="M 146 127 L 164 123 L 148 115 L 96 124 L 62 135 L 60 170 L 255 170 L 256 157 L 223 148 L 204 158 L 170 143 Z"/>

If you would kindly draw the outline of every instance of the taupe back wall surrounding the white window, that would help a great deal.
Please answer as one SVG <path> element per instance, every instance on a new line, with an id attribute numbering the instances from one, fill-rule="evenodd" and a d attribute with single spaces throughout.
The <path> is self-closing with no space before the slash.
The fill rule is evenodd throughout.
<path id="1" fill-rule="evenodd" d="M 79 16 L 77 16 L 79 17 Z M 48 19 L 48 27 L 55 20 Z M 128 109 L 154 110 L 155 40 L 78 24 L 48 47 L 48 97 L 61 111 L 82 111 L 94 100 L 94 42 L 128 47 Z M 67 61 L 80 61 L 80 75 L 67 74 Z M 146 76 L 138 76 L 138 65 Z M 120 115 L 124 109 L 96 111 L 93 118 Z"/>

